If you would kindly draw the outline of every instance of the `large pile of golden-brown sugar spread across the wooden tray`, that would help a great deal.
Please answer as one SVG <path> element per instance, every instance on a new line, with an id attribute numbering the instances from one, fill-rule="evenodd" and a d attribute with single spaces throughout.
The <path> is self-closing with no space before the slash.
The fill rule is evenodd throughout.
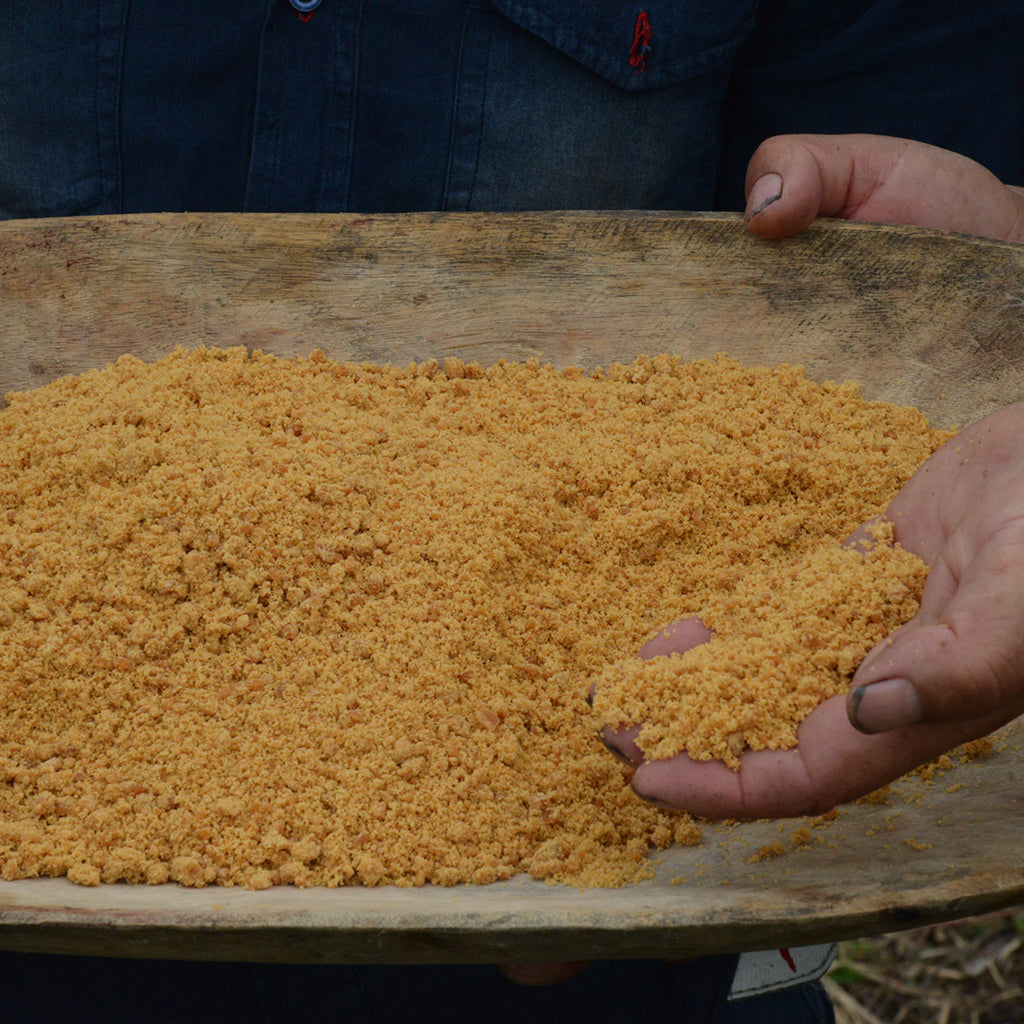
<path id="1" fill-rule="evenodd" d="M 752 573 L 764 635 L 788 623 L 788 566 L 842 557 L 943 439 L 853 386 L 726 358 L 585 374 L 177 351 L 12 395 L 0 873 L 640 877 L 699 826 L 633 796 L 591 683 L 680 615 L 728 632 Z M 826 675 L 869 642 L 869 593 L 911 611 L 919 566 L 863 564 L 856 607 L 819 603 L 845 636 L 799 626 Z M 685 745 L 665 707 L 644 705 L 652 749 Z M 708 754 L 762 742 L 756 716 L 726 718 Z"/>

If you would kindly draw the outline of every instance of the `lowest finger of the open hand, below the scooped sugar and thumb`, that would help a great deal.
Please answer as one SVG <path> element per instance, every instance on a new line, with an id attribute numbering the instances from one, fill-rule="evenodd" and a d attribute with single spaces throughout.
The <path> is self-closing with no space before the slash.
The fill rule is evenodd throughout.
<path id="1" fill-rule="evenodd" d="M 659 806 L 711 819 L 823 814 L 1006 721 L 980 718 L 865 735 L 850 725 L 838 696 L 801 724 L 793 750 L 748 751 L 738 771 L 685 755 L 650 761 L 637 768 L 633 788 Z"/>

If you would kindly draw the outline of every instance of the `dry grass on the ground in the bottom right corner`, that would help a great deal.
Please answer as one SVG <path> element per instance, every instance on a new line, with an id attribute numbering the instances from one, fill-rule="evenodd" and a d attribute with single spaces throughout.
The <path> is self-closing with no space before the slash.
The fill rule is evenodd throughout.
<path id="1" fill-rule="evenodd" d="M 838 1024 L 1021 1024 L 1024 907 L 845 942 L 825 987 Z"/>

